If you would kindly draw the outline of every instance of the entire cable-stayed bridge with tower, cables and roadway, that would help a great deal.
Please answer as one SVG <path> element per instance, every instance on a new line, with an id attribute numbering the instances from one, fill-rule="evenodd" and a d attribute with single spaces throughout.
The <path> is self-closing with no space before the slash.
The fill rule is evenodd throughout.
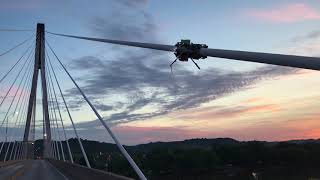
<path id="1" fill-rule="evenodd" d="M 30 30 L 1 30 L 0 31 L 30 31 Z M 45 39 L 47 34 L 66 38 L 134 46 L 161 51 L 174 52 L 176 61 L 191 60 L 198 69 L 195 60 L 206 57 L 219 57 L 241 61 L 266 63 L 273 65 L 320 70 L 320 58 L 268 54 L 245 51 L 210 49 L 205 44 L 193 44 L 182 40 L 176 45 L 150 44 L 128 42 L 111 39 L 100 39 L 53 33 L 45 30 L 44 24 L 38 24 L 36 34 L 0 54 L 0 58 L 14 50 L 27 45 L 20 58 L 0 77 L 0 89 L 9 76 L 13 76 L 7 89 L 1 89 L 0 109 L 4 111 L 0 119 L 2 142 L 0 145 L 0 179 L 127 179 L 91 168 L 86 149 L 78 135 L 70 107 L 63 93 L 62 83 L 57 77 L 56 68 L 61 68 L 70 78 L 73 85 L 82 95 L 83 100 L 90 106 L 100 120 L 106 132 L 115 141 L 122 155 L 129 162 L 139 179 L 147 179 L 129 153 L 122 146 L 116 135 L 99 114 L 95 105 L 82 91 L 75 79 L 69 73 L 58 53 Z M 0 60 L 1 63 L 1 60 Z M 14 72 L 16 72 L 14 74 Z M 40 93 L 38 93 L 38 90 Z M 42 99 L 42 107 L 37 107 L 37 96 Z M 58 99 L 61 99 L 62 103 Z M 35 160 L 35 130 L 37 108 L 42 109 L 43 122 L 43 152 L 40 160 Z M 63 118 L 67 114 L 67 119 Z M 73 150 L 69 144 L 65 122 L 70 122 L 76 136 L 86 167 L 76 165 Z M 17 138 L 18 137 L 18 138 Z M 66 143 L 66 146 L 63 145 Z"/>

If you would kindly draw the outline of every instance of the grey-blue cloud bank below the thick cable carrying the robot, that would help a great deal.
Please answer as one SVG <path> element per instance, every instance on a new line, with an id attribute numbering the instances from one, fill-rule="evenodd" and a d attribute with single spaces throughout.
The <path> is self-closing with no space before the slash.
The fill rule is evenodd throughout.
<path id="1" fill-rule="evenodd" d="M 198 107 L 202 103 L 249 88 L 259 80 L 295 72 L 295 69 L 291 68 L 265 66 L 245 73 L 210 68 L 197 74 L 180 68 L 175 71 L 173 79 L 168 67 L 158 68 L 167 66 L 168 59 L 159 57 L 155 60 L 157 63 L 147 64 L 144 62 L 145 58 L 131 56 L 130 61 L 80 58 L 74 61 L 74 68 L 80 69 L 83 67 L 81 61 L 84 61 L 84 64 L 88 61 L 98 61 L 94 64 L 101 64 L 99 67 L 92 67 L 95 72 L 93 75 L 80 79 L 84 83 L 83 90 L 93 99 L 113 102 L 108 104 L 106 110 L 122 105 L 121 112 L 107 117 L 110 121 L 121 123 L 148 119 L 172 111 Z M 76 93 L 76 89 L 68 90 L 69 96 Z M 122 98 L 116 100 L 116 96 Z M 79 105 L 79 102 L 76 102 L 75 106 Z M 143 108 L 148 111 L 136 112 Z"/>

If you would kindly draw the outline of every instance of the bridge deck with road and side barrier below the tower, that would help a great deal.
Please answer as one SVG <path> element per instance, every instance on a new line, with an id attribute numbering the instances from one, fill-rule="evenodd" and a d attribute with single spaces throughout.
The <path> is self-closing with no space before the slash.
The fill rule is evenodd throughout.
<path id="1" fill-rule="evenodd" d="M 132 180 L 83 166 L 55 160 L 25 160 L 0 163 L 0 179 L 13 180 Z"/>

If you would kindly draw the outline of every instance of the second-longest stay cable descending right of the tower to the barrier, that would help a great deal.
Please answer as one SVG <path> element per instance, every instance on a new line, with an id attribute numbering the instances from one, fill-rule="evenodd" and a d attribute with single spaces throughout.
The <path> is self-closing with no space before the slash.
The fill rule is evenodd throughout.
<path id="1" fill-rule="evenodd" d="M 48 56 L 48 57 L 49 57 L 49 56 Z M 87 167 L 91 168 L 91 165 L 90 165 L 89 160 L 88 160 L 88 157 L 87 157 L 87 153 L 86 153 L 85 149 L 83 148 L 81 139 L 80 139 L 80 137 L 79 137 L 79 135 L 78 135 L 77 128 L 76 128 L 76 126 L 75 126 L 75 124 L 74 124 L 74 122 L 73 122 L 73 118 L 72 118 L 72 116 L 71 116 L 69 107 L 68 107 L 68 105 L 67 105 L 67 103 L 66 103 L 66 100 L 65 100 L 65 98 L 64 98 L 64 95 L 63 95 L 63 93 L 62 93 L 62 89 L 61 89 L 60 83 L 59 83 L 59 81 L 58 81 L 58 78 L 57 78 L 57 76 L 56 76 L 56 73 L 55 73 L 55 70 L 54 70 L 54 68 L 53 68 L 53 66 L 52 66 L 52 63 L 51 63 L 50 58 L 48 58 L 48 62 L 49 62 L 49 65 L 50 65 L 50 67 L 51 67 L 51 70 L 52 70 L 52 72 L 53 72 L 54 79 L 55 79 L 55 81 L 56 81 L 56 83 L 57 83 L 57 85 L 58 85 L 58 89 L 59 89 L 61 98 L 62 98 L 62 100 L 63 100 L 63 104 L 64 104 L 64 106 L 65 106 L 65 108 L 66 108 L 66 110 L 67 110 L 69 119 L 70 119 L 71 124 L 72 124 L 72 127 L 73 127 L 73 131 L 74 131 L 74 134 L 76 135 L 76 138 L 77 138 L 77 140 L 78 140 L 78 143 L 79 143 L 80 150 L 81 150 L 81 153 L 82 153 L 82 155 L 83 155 L 83 158 L 84 158 L 84 160 L 85 160 L 85 162 L 86 162 Z"/>

